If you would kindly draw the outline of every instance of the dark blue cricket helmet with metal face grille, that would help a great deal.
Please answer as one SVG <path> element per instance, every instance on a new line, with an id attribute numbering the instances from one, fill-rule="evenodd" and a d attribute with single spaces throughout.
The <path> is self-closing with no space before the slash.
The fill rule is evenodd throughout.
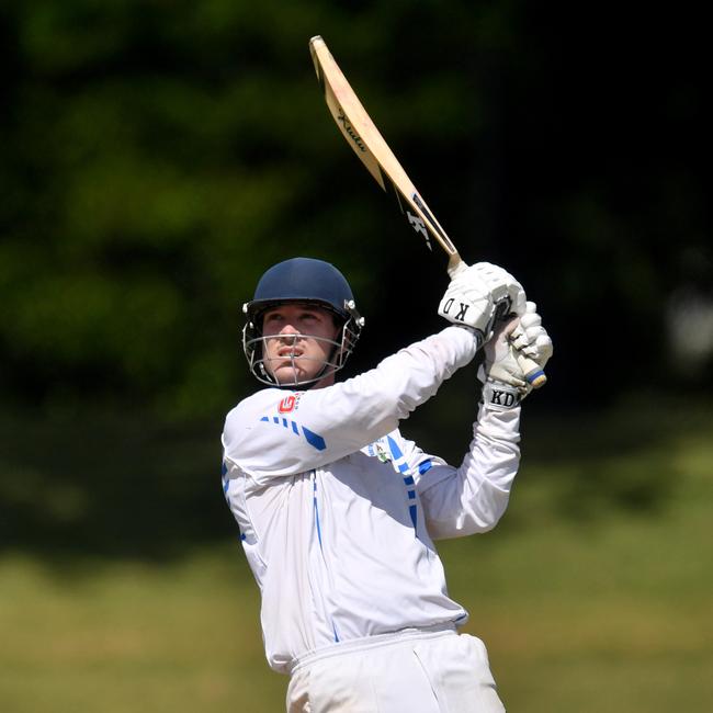
<path id="1" fill-rule="evenodd" d="M 275 384 L 263 360 L 262 315 L 270 307 L 297 302 L 316 304 L 330 310 L 341 324 L 332 341 L 331 355 L 319 374 L 308 382 Z M 349 282 L 335 265 L 314 258 L 292 258 L 272 265 L 258 281 L 253 298 L 242 305 L 247 320 L 242 330 L 242 349 L 252 374 L 261 382 L 279 386 L 314 385 L 339 371 L 351 354 L 364 326 L 356 312 Z"/>

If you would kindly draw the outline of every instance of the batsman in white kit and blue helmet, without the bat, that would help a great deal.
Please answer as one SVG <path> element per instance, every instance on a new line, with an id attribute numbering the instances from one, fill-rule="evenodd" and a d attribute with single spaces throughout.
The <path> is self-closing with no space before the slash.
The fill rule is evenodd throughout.
<path id="1" fill-rule="evenodd" d="M 288 713 L 505 711 L 484 643 L 459 633 L 468 614 L 434 541 L 486 532 L 508 505 L 531 389 L 520 356 L 544 369 L 552 355 L 535 305 L 501 268 L 474 264 L 441 299 L 443 329 L 342 382 L 364 320 L 333 265 L 273 265 L 245 313 L 264 388 L 226 417 L 223 487 Z M 473 440 L 450 465 L 399 422 L 479 349 Z"/>

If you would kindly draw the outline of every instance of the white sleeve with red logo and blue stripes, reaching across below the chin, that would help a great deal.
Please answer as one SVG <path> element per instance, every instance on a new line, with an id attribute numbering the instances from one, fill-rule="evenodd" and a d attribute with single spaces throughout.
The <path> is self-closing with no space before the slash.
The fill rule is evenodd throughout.
<path id="1" fill-rule="evenodd" d="M 397 428 L 475 355 L 460 327 L 388 356 L 327 388 L 268 388 L 241 401 L 225 423 L 225 457 L 257 479 L 294 475 L 354 453 Z"/>

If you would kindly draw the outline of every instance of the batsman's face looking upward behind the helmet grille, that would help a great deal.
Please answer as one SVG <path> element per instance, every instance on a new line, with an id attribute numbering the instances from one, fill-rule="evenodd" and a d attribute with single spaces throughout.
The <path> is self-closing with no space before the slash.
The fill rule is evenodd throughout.
<path id="1" fill-rule="evenodd" d="M 327 309 L 285 304 L 268 309 L 262 319 L 264 366 L 279 384 L 314 378 L 329 360 L 339 328 Z M 333 374 L 320 381 L 326 386 Z"/>

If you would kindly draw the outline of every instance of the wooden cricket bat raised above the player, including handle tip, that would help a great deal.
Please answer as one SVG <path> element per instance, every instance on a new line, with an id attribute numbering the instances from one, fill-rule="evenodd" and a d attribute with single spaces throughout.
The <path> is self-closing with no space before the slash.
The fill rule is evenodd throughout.
<path id="1" fill-rule="evenodd" d="M 309 41 L 309 52 L 327 106 L 347 143 L 382 189 L 395 196 L 401 213 L 429 249 L 432 249 L 433 238 L 445 251 L 448 272 L 454 278 L 466 264 L 362 106 L 320 35 Z M 520 359 L 528 382 L 535 388 L 542 386 L 547 377 L 539 364 L 525 356 Z"/>

